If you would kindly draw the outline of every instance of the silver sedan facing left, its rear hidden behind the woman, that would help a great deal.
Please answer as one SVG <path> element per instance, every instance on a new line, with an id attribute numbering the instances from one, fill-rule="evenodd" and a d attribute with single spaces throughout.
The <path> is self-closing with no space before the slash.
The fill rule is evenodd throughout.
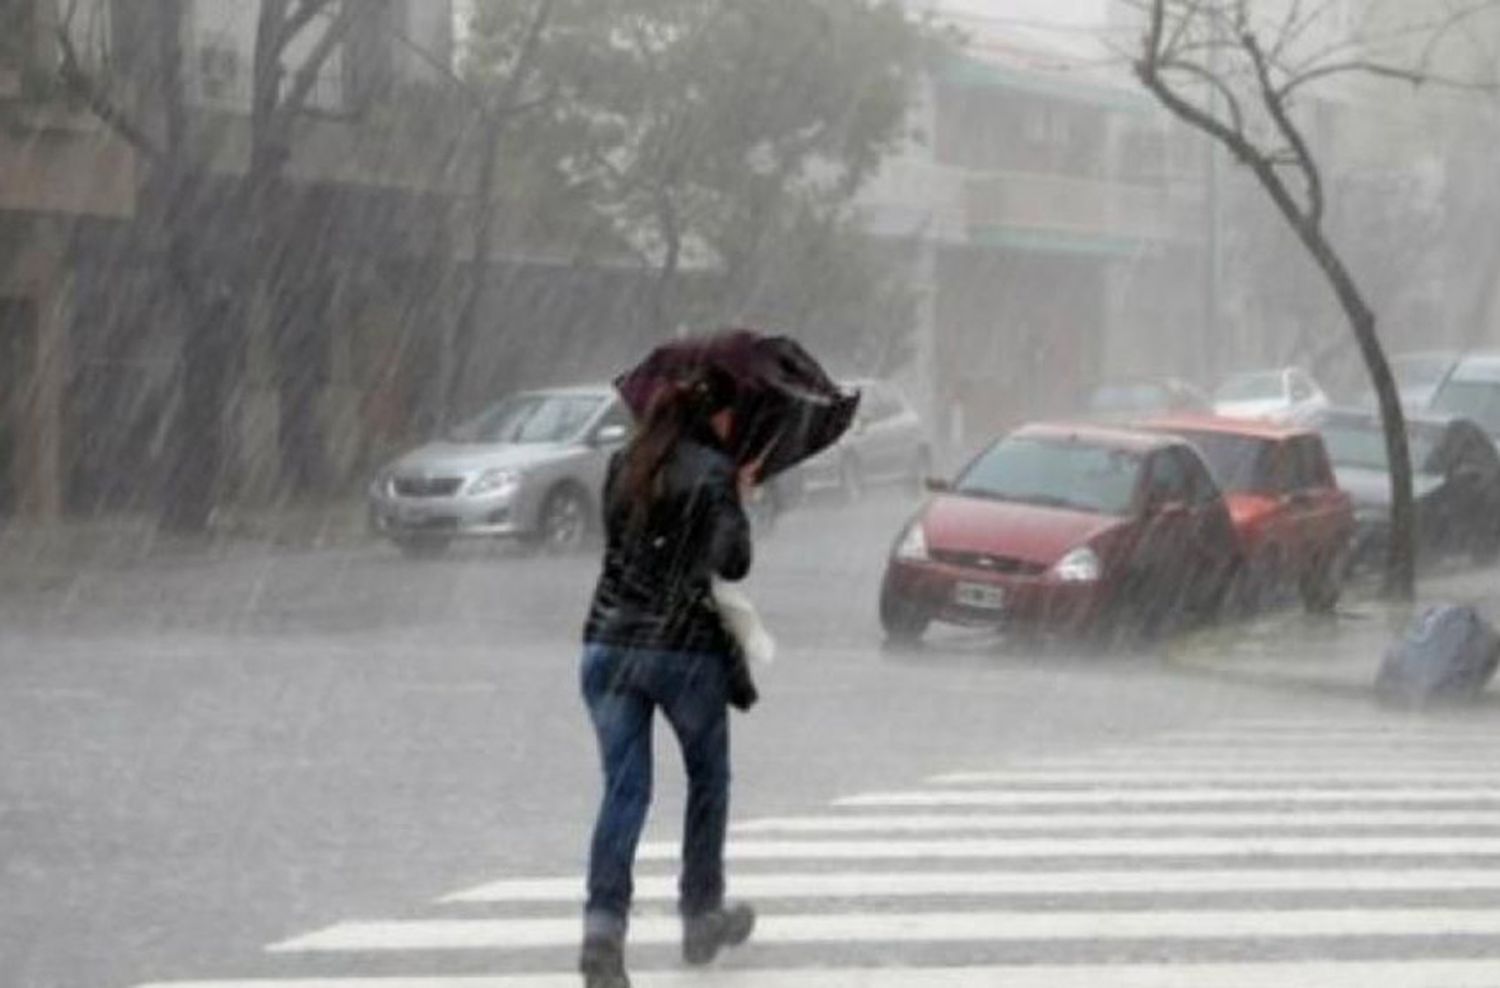
<path id="1" fill-rule="evenodd" d="M 370 528 L 414 556 L 454 538 L 578 549 L 597 528 L 609 456 L 630 421 L 608 385 L 507 397 L 381 469 Z"/>

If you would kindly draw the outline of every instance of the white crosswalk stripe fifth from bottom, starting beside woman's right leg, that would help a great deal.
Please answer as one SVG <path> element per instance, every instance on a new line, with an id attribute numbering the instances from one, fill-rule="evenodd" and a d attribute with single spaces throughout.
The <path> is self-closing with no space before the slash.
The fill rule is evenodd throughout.
<path id="1" fill-rule="evenodd" d="M 736 834 L 948 834 L 964 831 L 1238 831 L 1500 828 L 1500 810 L 1311 810 L 1248 813 L 945 813 L 902 816 L 766 817 Z"/>

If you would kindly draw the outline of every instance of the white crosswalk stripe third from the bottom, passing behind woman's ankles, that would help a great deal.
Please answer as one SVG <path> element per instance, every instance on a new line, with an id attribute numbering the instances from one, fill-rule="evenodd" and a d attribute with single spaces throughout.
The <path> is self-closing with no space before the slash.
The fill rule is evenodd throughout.
<path id="1" fill-rule="evenodd" d="M 1310 868 L 1131 871 L 854 871 L 730 876 L 735 895 L 760 900 L 944 895 L 1122 895 L 1209 892 L 1496 892 L 1500 868 Z M 579 903 L 582 879 L 508 879 L 454 892 L 442 903 Z M 672 876 L 636 879 L 636 900 L 676 900 Z"/>

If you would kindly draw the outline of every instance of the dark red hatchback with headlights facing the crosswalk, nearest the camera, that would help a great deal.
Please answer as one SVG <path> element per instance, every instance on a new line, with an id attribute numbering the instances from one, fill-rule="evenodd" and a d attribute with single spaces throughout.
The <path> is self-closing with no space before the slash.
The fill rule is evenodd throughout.
<path id="1" fill-rule="evenodd" d="M 897 538 L 880 624 L 934 621 L 1084 636 L 1212 616 L 1239 562 L 1228 508 L 1190 444 L 1102 426 L 1000 439 Z"/>

